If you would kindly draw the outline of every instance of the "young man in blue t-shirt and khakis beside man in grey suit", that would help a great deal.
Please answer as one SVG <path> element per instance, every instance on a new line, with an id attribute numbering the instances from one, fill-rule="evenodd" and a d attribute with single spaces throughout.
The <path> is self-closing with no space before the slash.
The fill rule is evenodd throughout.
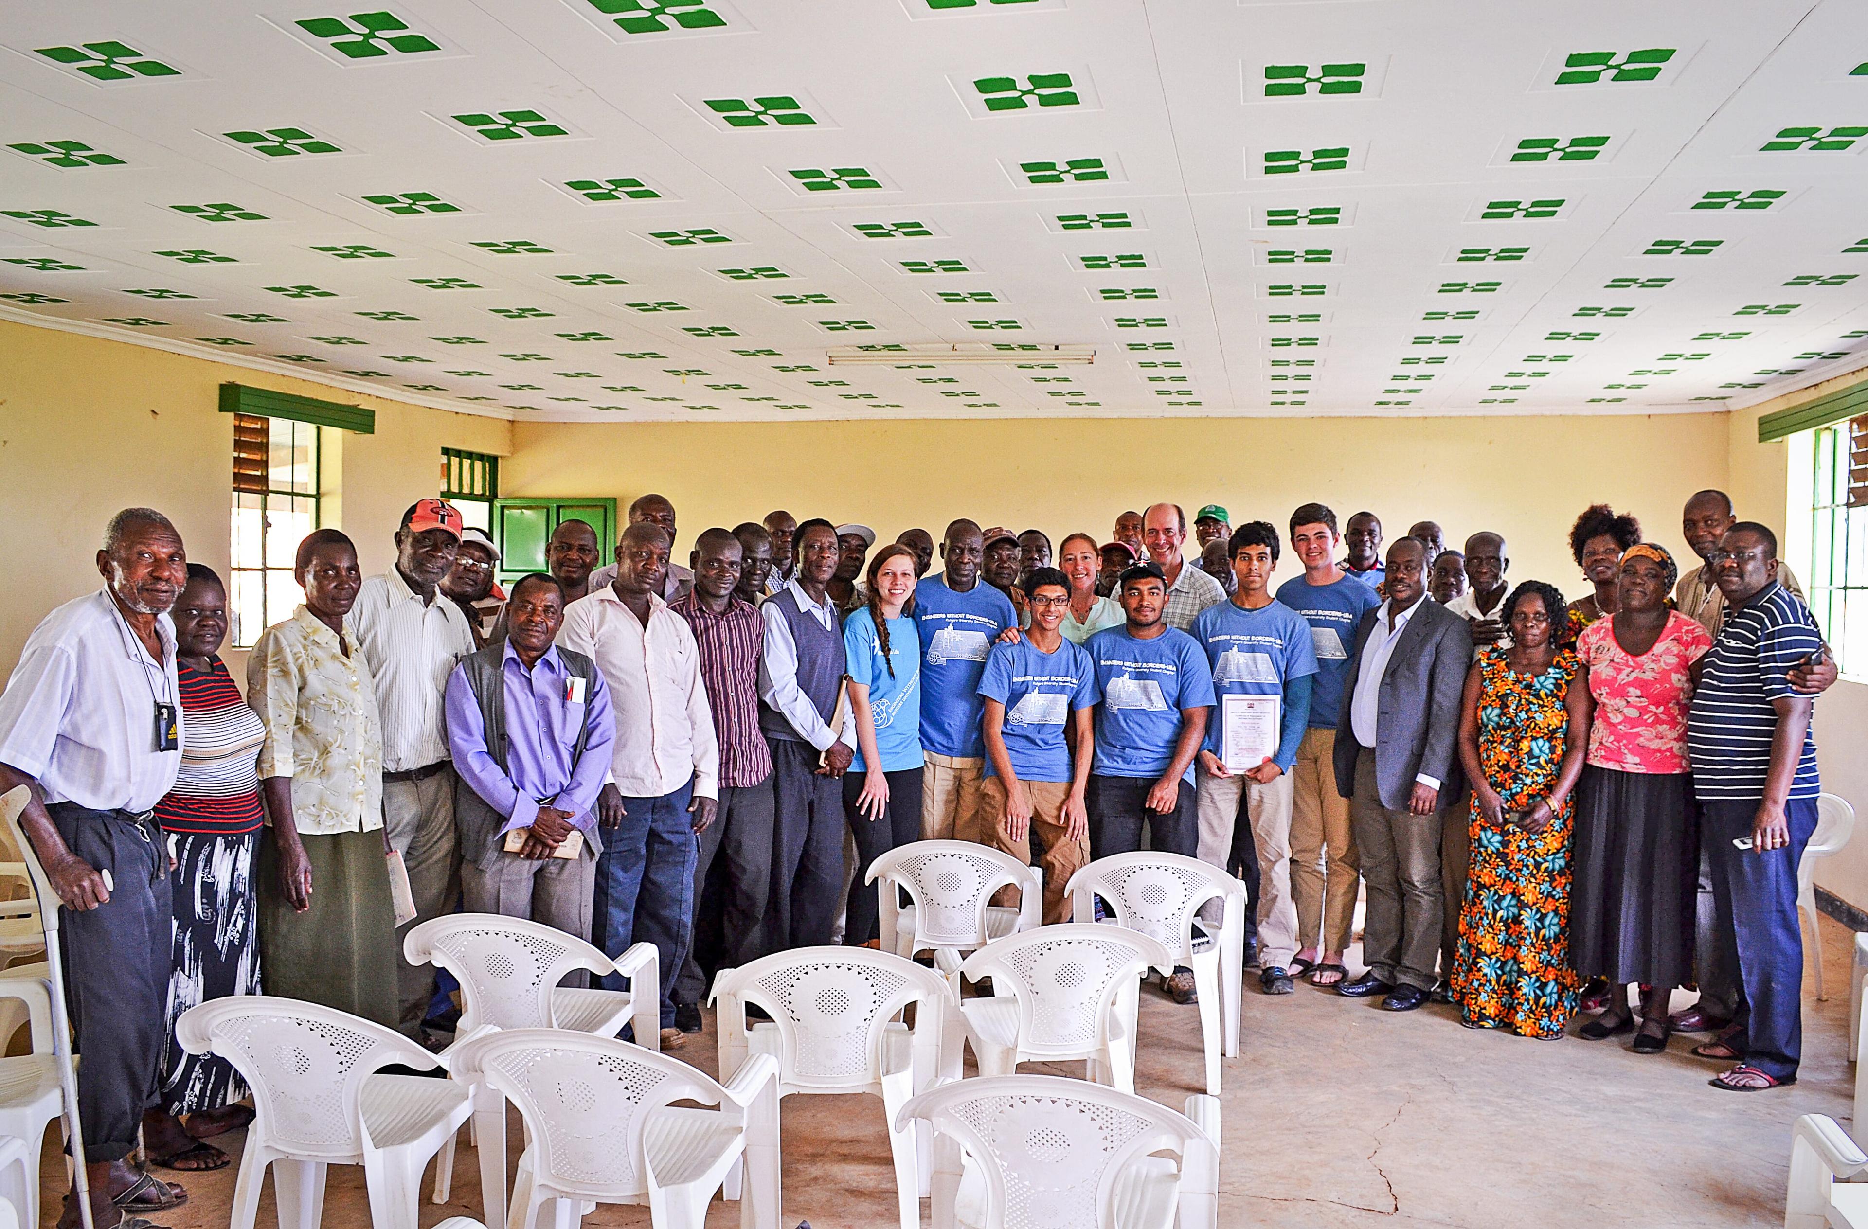
<path id="1" fill-rule="evenodd" d="M 1278 601 L 1309 624 L 1317 654 L 1309 727 L 1291 771 L 1291 897 L 1296 900 L 1302 943 L 1293 964 L 1300 973 L 1311 969 L 1313 986 L 1336 986 L 1345 975 L 1343 953 L 1349 949 L 1362 863 L 1349 829 L 1349 799 L 1336 792 L 1336 717 L 1343 706 L 1356 624 L 1382 603 L 1373 585 L 1336 566 L 1339 544 L 1334 512 L 1323 504 L 1300 506 L 1291 514 L 1291 553 L 1304 575 L 1278 588 Z M 1319 867 L 1326 867 L 1328 878 Z"/>

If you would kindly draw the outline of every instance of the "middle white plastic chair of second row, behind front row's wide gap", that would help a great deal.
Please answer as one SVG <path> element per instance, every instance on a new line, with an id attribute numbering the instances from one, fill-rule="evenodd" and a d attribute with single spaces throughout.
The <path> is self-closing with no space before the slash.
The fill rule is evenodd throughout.
<path id="1" fill-rule="evenodd" d="M 779 1063 L 779 1096 L 870 1093 L 882 1098 L 895 1156 L 902 1229 L 919 1229 L 927 1194 L 928 1136 L 895 1130 L 895 1115 L 934 1087 L 941 1033 L 953 1012 L 947 979 L 895 953 L 865 947 L 800 947 L 721 969 L 719 1074 L 730 1078 L 755 1053 Z M 749 1022 L 745 1005 L 770 1022 Z M 915 1024 L 897 1020 L 908 1005 Z M 783 1214 L 783 1208 L 779 1208 Z"/>

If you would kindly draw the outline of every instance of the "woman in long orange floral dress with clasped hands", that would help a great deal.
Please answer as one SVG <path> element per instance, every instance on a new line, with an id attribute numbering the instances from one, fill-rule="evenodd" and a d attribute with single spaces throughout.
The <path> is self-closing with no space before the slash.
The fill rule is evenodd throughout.
<path id="1" fill-rule="evenodd" d="M 1472 781 L 1472 867 L 1451 997 L 1472 1029 L 1554 1040 L 1577 1010 L 1569 962 L 1571 790 L 1590 736 L 1590 689 L 1558 648 L 1564 596 L 1526 581 L 1506 598 L 1511 648 L 1466 676 L 1459 758 Z"/>

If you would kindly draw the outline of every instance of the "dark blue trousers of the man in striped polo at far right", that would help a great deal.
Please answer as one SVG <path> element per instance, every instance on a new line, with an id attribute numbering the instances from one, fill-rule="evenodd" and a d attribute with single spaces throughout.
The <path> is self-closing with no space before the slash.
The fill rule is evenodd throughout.
<path id="1" fill-rule="evenodd" d="M 1737 971 L 1732 1048 L 1773 1080 L 1791 1080 L 1803 1057 L 1803 926 L 1797 923 L 1797 863 L 1816 833 L 1816 799 L 1784 805 L 1790 844 L 1737 850 L 1750 837 L 1756 801 L 1700 801 L 1700 841 L 1713 869 L 1713 908 L 1726 968 Z"/>

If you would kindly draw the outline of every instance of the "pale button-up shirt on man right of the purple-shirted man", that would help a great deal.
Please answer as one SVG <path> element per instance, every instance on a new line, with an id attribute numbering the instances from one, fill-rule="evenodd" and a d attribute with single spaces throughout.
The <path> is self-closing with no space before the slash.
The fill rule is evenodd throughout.
<path id="1" fill-rule="evenodd" d="M 624 798 L 661 798 L 691 777 L 695 798 L 719 798 L 719 742 L 687 620 L 648 594 L 648 626 L 611 586 L 564 611 L 559 646 L 603 671 L 616 713 L 611 775 Z"/>

